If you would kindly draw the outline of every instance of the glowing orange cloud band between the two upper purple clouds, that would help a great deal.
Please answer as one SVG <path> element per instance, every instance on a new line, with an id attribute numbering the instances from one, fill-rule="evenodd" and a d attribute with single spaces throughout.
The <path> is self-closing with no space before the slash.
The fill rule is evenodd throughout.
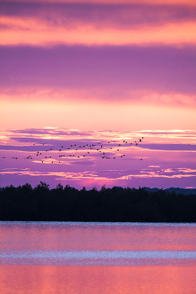
<path id="1" fill-rule="evenodd" d="M 85 45 L 182 45 L 195 44 L 196 22 L 179 21 L 162 25 L 140 25 L 130 29 L 95 27 L 93 24 L 75 23 L 73 26 L 52 26 L 34 18 L 3 16 L 0 18 L 1 45 L 54 44 Z M 4 28 L 6 27 L 6 29 Z"/>

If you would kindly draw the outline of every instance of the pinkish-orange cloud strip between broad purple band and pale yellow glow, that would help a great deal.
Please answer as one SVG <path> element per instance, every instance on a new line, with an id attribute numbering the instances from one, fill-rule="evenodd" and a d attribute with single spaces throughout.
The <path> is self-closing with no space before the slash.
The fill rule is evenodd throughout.
<path id="1" fill-rule="evenodd" d="M 106 97 L 105 97 L 106 96 Z M 154 91 L 127 91 L 121 90 L 120 97 L 110 97 L 111 93 L 108 90 L 103 93 L 101 89 L 95 88 L 37 88 L 36 91 L 32 91 L 29 88 L 18 88 L 12 93 L 10 89 L 1 89 L 0 99 L 6 103 L 6 101 L 103 101 L 112 100 L 118 103 L 120 101 L 126 101 L 126 103 L 144 103 L 152 105 L 165 105 L 168 104 L 178 107 L 196 107 L 196 95 L 195 94 L 183 94 L 183 93 L 158 93 Z"/>

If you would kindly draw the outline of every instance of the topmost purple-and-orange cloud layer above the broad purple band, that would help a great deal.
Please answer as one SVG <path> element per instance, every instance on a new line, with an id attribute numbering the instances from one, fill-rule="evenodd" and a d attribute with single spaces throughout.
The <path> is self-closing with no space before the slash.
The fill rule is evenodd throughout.
<path id="1" fill-rule="evenodd" d="M 3 1 L 1 45 L 193 44 L 195 6 L 157 3 Z"/>

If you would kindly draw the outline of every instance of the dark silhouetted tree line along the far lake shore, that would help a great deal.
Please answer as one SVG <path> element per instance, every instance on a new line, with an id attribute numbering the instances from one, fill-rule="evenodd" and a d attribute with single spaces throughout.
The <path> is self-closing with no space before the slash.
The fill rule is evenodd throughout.
<path id="1" fill-rule="evenodd" d="M 80 191 L 60 183 L 55 189 L 40 182 L 0 191 L 0 220 L 98 221 L 98 222 L 195 222 L 196 195 L 163 189 L 96 187 Z"/>

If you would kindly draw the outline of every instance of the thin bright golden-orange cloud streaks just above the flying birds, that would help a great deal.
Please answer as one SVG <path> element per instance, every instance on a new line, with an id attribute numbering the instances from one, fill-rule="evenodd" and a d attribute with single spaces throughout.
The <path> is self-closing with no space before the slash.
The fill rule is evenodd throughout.
<path id="1" fill-rule="evenodd" d="M 148 143 L 148 148 L 142 148 L 142 150 L 148 150 L 148 151 L 186 151 L 191 152 L 194 151 L 194 149 L 190 149 L 190 146 L 186 142 L 192 141 L 192 144 L 195 144 L 196 140 L 196 131 L 191 130 L 143 130 L 143 131 L 110 131 L 110 130 L 103 130 L 103 129 L 97 129 L 97 130 L 79 130 L 79 129 L 73 129 L 73 128 L 58 128 L 58 127 L 45 127 L 45 128 L 27 128 L 27 129 L 14 129 L 6 131 L 4 129 L 0 129 L 0 140 L 4 142 L 4 145 L 10 145 L 10 138 L 11 140 L 11 146 L 16 146 L 19 144 L 21 146 L 21 143 L 23 146 L 29 146 L 29 138 L 36 139 L 36 140 L 59 140 L 59 141 L 69 141 L 69 140 L 75 140 L 75 141 L 86 141 L 86 140 L 100 140 L 100 142 L 105 143 L 107 141 L 116 141 L 116 143 L 112 143 L 115 146 L 118 146 L 119 142 L 122 144 L 120 146 L 120 150 L 125 151 L 127 150 L 127 145 L 124 143 L 123 140 L 127 140 L 128 143 L 133 143 L 133 141 L 137 140 L 138 138 L 144 137 L 142 144 Z M 24 139 L 25 138 L 25 139 Z M 174 140 L 177 141 L 177 143 L 180 140 L 182 140 L 183 145 L 179 146 L 174 144 Z M 104 142 L 105 141 L 105 142 Z M 2 142 L 2 143 L 3 143 Z M 57 142 L 57 141 L 56 141 Z M 24 143 L 27 143 L 24 144 Z M 117 144 L 118 143 L 118 144 Z M 155 144 L 155 148 L 150 148 L 152 144 Z M 165 143 L 170 143 L 172 146 L 176 146 L 176 148 L 170 149 L 169 146 L 164 145 Z M 53 142 L 50 143 L 48 141 L 48 145 L 54 144 Z M 80 143 L 82 145 L 82 143 Z M 162 144 L 162 145 L 160 145 Z M 59 143 L 57 144 L 59 145 Z M 90 144 L 89 144 L 90 145 Z M 111 145 L 111 143 L 110 143 Z M 131 150 L 133 148 L 138 149 L 137 147 L 131 146 Z M 104 146 L 104 145 L 103 145 Z M 130 146 L 130 145 L 129 145 Z M 147 147 L 147 145 L 145 145 Z M 163 146 L 163 148 L 161 148 Z M 108 146 L 107 146 L 108 147 Z M 113 146 L 114 147 L 114 146 Z M 142 147 L 142 145 L 140 146 Z M 158 147 L 160 149 L 158 149 Z M 116 148 L 115 148 L 116 149 Z M 20 150 L 20 149 L 19 149 Z M 29 151 L 28 151 L 29 152 Z M 53 151 L 53 153 L 56 151 Z M 63 152 L 68 153 L 70 151 L 63 150 Z M 154 166 L 154 165 L 153 165 Z M 149 166 L 150 167 L 150 166 Z M 155 167 L 158 167 L 155 165 Z"/>

